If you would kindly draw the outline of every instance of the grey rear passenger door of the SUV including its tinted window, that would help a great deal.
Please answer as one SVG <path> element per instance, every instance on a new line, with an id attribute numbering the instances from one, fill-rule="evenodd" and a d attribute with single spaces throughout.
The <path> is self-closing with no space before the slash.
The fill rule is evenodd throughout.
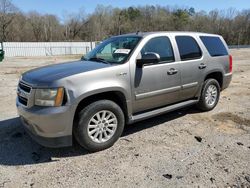
<path id="1" fill-rule="evenodd" d="M 187 100 L 198 95 L 207 65 L 201 48 L 193 36 L 175 36 L 175 40 L 180 58 L 182 87 L 180 98 Z"/>

